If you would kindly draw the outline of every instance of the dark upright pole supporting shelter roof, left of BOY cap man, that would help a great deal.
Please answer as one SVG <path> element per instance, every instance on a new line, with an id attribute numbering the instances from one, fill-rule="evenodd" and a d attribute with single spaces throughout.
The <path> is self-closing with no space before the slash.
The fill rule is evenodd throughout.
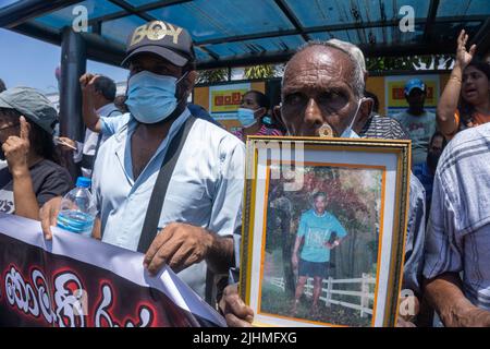
<path id="1" fill-rule="evenodd" d="M 85 125 L 82 119 L 82 89 L 79 77 L 87 67 L 86 45 L 79 33 L 65 27 L 61 43 L 61 84 L 60 84 L 60 134 L 82 141 Z M 79 174 L 79 168 L 73 163 L 73 154 L 66 153 L 65 160 L 72 177 Z"/>

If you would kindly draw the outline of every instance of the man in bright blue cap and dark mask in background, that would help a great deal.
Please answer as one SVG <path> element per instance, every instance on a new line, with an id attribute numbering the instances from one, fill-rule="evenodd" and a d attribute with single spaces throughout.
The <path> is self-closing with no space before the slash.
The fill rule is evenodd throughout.
<path id="1" fill-rule="evenodd" d="M 436 115 L 425 110 L 427 86 L 420 79 L 412 79 L 405 84 L 408 109 L 393 118 L 408 132 L 412 140 L 412 166 L 424 164 L 430 137 L 436 132 Z"/>

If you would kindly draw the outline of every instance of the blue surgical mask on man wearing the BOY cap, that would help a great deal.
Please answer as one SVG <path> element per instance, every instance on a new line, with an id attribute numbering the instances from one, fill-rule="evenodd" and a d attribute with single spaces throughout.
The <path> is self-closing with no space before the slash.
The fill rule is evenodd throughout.
<path id="1" fill-rule="evenodd" d="M 131 115 L 142 123 L 157 123 L 167 119 L 176 108 L 177 81 L 174 76 L 142 71 L 130 77 L 127 100 Z"/>

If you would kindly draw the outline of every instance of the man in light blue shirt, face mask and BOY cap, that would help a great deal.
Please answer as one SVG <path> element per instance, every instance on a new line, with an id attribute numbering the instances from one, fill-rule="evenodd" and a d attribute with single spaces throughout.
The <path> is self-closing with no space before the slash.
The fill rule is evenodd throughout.
<path id="1" fill-rule="evenodd" d="M 211 276 L 228 273 L 234 262 L 233 234 L 241 231 L 245 147 L 225 130 L 195 119 L 186 108 L 187 91 L 196 79 L 186 29 L 161 21 L 137 27 L 128 38 L 123 65 L 130 69 L 130 113 L 97 118 L 91 125 L 97 131 L 118 130 L 96 159 L 93 192 L 101 231 L 94 236 L 146 253 L 144 266 L 151 275 L 167 264 L 212 303 Z M 164 179 L 162 207 L 151 207 L 163 159 L 181 130 L 188 130 L 188 135 L 182 136 L 182 151 Z M 59 203 L 60 198 L 52 200 L 41 209 L 47 239 Z M 157 212 L 158 229 L 151 231 L 156 237 L 149 248 L 142 251 L 148 210 Z"/>

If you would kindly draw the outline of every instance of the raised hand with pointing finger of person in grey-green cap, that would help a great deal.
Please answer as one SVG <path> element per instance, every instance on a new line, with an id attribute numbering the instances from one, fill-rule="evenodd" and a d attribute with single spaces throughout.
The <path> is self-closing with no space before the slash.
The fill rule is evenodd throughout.
<path id="1" fill-rule="evenodd" d="M 13 177 L 28 174 L 28 160 L 30 143 L 29 143 L 29 130 L 30 125 L 21 117 L 21 134 L 20 136 L 11 135 L 7 139 L 2 145 L 3 153 L 5 154 L 7 164 L 9 170 Z"/>

